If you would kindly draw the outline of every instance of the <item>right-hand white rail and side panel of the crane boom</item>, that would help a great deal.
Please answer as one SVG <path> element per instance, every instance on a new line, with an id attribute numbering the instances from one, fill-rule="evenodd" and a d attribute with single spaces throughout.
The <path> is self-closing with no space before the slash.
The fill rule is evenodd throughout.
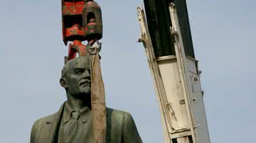
<path id="1" fill-rule="evenodd" d="M 178 67 L 183 79 L 183 92 L 186 98 L 188 118 L 191 125 L 191 134 L 193 142 L 210 143 L 208 125 L 206 121 L 206 112 L 203 103 L 203 92 L 201 91 L 201 82 L 196 59 L 186 57 L 179 27 L 178 16 L 174 3 L 169 6 L 171 22 L 174 33 L 174 47 L 178 62 Z"/>

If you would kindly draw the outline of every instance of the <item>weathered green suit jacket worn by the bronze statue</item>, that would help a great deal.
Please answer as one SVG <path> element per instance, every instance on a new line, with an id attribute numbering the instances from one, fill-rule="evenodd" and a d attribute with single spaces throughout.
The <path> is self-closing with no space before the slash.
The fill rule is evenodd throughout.
<path id="1" fill-rule="evenodd" d="M 65 103 L 64 103 L 65 104 Z M 53 115 L 37 120 L 31 130 L 31 143 L 57 143 L 64 104 Z M 107 108 L 106 143 L 142 143 L 132 115 Z"/>

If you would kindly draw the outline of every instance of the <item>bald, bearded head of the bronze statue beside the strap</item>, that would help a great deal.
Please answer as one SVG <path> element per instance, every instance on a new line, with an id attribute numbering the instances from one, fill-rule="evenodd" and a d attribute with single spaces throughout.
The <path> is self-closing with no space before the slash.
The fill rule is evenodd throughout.
<path id="1" fill-rule="evenodd" d="M 68 95 L 76 98 L 90 96 L 90 57 L 77 57 L 68 61 L 63 67 L 60 85 Z"/>

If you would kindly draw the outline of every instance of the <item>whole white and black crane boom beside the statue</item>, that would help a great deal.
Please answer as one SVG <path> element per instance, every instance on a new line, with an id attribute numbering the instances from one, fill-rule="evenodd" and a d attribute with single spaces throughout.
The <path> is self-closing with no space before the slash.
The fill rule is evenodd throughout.
<path id="1" fill-rule="evenodd" d="M 159 102 L 166 143 L 210 143 L 186 0 L 144 0 L 141 38 Z M 147 21 L 146 21 L 147 20 Z"/>

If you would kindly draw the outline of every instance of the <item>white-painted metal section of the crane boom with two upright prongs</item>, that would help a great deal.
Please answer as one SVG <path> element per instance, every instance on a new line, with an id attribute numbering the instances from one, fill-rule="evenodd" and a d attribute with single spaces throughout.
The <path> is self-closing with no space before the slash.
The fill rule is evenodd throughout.
<path id="1" fill-rule="evenodd" d="M 171 33 L 176 56 L 156 58 L 146 18 L 137 8 L 146 56 L 154 79 L 166 143 L 210 143 L 196 59 L 186 57 L 174 4 L 170 5 Z"/>

